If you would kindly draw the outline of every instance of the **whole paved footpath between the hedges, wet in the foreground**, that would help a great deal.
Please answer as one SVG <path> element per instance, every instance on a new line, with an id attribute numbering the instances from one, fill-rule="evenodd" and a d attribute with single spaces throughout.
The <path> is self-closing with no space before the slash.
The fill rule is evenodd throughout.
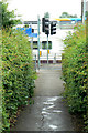
<path id="1" fill-rule="evenodd" d="M 75 131 L 62 96 L 62 64 L 44 64 L 37 75 L 34 104 L 21 112 L 13 131 Z"/>

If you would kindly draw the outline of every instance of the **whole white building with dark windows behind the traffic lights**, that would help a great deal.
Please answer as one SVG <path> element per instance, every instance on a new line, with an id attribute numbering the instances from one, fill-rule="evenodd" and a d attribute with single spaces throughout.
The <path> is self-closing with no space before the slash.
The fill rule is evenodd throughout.
<path id="1" fill-rule="evenodd" d="M 62 53 L 64 50 L 64 43 L 62 40 L 65 39 L 68 31 L 74 31 L 73 28 L 61 29 L 59 22 L 57 20 L 54 21 L 57 22 L 56 24 L 57 28 L 56 28 L 56 34 L 48 35 L 48 63 L 62 62 Z M 72 25 L 72 21 L 73 20 L 69 20 L 70 25 Z M 62 21 L 62 22 L 63 24 L 66 23 L 66 21 Z M 25 21 L 23 27 L 24 25 L 28 25 L 28 28 L 25 28 L 26 30 L 30 28 L 34 29 L 33 33 L 29 34 L 29 42 L 31 43 L 33 60 L 35 61 L 36 58 L 36 62 L 37 62 L 38 41 L 37 41 L 37 35 L 34 35 L 37 34 L 37 21 Z M 47 35 L 44 32 L 42 32 L 42 23 L 40 24 L 40 62 L 41 63 L 47 62 Z"/>

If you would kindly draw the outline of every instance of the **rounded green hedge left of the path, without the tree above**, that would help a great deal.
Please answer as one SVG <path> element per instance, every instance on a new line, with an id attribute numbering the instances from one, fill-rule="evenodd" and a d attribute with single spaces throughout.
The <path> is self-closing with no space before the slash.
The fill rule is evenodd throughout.
<path id="1" fill-rule="evenodd" d="M 34 70 L 28 38 L 18 30 L 2 31 L 2 122 L 9 130 L 19 106 L 33 95 Z"/>

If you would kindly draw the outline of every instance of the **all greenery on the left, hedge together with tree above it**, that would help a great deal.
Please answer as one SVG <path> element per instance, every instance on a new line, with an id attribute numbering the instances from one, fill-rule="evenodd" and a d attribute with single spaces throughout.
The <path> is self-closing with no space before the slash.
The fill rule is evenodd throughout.
<path id="1" fill-rule="evenodd" d="M 34 65 L 29 40 L 12 27 L 21 22 L 0 1 L 0 132 L 8 132 L 19 108 L 28 105 L 34 89 Z"/>

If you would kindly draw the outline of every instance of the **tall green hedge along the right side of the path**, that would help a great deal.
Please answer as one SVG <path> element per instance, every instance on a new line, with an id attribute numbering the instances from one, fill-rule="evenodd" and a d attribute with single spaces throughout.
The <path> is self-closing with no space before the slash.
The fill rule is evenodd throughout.
<path id="1" fill-rule="evenodd" d="M 84 114 L 87 120 L 88 53 L 86 40 L 86 28 L 82 24 L 79 24 L 74 33 L 69 32 L 64 40 L 66 47 L 63 53 L 63 80 L 65 81 L 64 96 L 69 111 Z"/>

